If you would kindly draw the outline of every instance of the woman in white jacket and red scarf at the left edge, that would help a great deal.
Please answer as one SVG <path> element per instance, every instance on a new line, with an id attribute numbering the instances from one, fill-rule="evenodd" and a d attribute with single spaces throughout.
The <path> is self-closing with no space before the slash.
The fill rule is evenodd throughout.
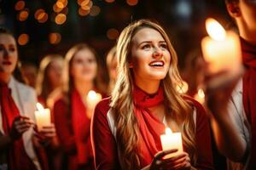
<path id="1" fill-rule="evenodd" d="M 37 97 L 34 89 L 17 81 L 17 62 L 15 38 L 0 28 L 0 169 L 48 169 L 42 144 L 55 137 L 55 127 L 33 131 Z"/>

